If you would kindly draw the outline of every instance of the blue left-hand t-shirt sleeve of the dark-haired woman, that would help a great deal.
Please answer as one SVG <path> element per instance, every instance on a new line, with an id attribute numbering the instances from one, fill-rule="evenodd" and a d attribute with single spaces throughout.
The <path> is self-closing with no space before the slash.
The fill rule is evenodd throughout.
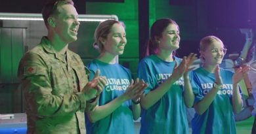
<path id="1" fill-rule="evenodd" d="M 148 93 L 154 88 L 156 88 L 156 85 L 154 84 L 152 74 L 150 73 L 150 67 L 149 65 L 144 61 L 140 61 L 138 69 L 137 69 L 137 75 L 138 78 L 144 80 L 144 82 L 148 83 L 148 88 L 144 90 L 144 93 Z"/>

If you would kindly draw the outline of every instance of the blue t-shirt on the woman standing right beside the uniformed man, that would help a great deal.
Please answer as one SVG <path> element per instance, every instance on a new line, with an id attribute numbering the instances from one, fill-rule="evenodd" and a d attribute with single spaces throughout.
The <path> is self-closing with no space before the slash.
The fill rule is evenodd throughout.
<path id="1" fill-rule="evenodd" d="M 100 94 L 98 106 L 105 105 L 125 93 L 127 86 L 130 84 L 131 71 L 118 63 L 108 64 L 95 59 L 89 64 L 88 68 L 92 72 L 89 80 L 93 78 L 97 69 L 100 69 L 100 76 L 106 76 L 108 80 Z M 123 102 L 114 112 L 94 124 L 89 122 L 87 115 L 85 120 L 87 133 L 89 134 L 134 133 L 131 100 Z"/>

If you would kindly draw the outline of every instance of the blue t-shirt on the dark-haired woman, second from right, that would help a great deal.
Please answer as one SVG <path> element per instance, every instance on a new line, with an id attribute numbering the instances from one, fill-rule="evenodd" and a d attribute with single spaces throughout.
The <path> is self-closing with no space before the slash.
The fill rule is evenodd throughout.
<path id="1" fill-rule="evenodd" d="M 178 65 L 181 63 L 179 58 L 175 58 L 175 61 Z M 148 82 L 145 93 L 155 90 L 171 76 L 175 61 L 163 61 L 156 55 L 148 56 L 140 61 L 138 76 Z M 142 109 L 140 133 L 188 133 L 183 85 L 184 80 L 180 78 L 152 107 L 148 110 Z"/>

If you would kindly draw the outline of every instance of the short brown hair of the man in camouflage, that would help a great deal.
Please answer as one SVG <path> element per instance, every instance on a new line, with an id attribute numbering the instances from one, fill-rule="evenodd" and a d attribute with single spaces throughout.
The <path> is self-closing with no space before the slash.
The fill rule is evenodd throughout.
<path id="1" fill-rule="evenodd" d="M 72 0 L 49 0 L 42 10 L 43 21 L 45 25 L 48 27 L 48 18 L 53 14 L 58 14 L 57 7 L 60 5 L 74 5 Z"/>

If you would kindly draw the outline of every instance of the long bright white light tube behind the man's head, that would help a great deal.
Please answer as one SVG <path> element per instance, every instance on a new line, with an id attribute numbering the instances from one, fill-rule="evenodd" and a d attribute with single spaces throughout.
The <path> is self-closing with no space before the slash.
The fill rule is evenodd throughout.
<path id="1" fill-rule="evenodd" d="M 28 13 L 3 13 L 0 12 L 0 20 L 37 20 L 43 21 L 42 14 Z M 116 15 L 79 14 L 80 22 L 103 22 L 105 20 L 118 20 Z"/>

